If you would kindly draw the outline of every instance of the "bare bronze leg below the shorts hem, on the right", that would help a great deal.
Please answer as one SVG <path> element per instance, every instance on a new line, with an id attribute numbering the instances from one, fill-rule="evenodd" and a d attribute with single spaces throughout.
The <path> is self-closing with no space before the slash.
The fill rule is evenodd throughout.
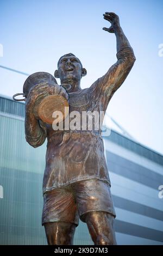
<path id="1" fill-rule="evenodd" d="M 93 211 L 85 214 L 84 219 L 95 245 L 116 245 L 114 216 L 108 212 Z"/>

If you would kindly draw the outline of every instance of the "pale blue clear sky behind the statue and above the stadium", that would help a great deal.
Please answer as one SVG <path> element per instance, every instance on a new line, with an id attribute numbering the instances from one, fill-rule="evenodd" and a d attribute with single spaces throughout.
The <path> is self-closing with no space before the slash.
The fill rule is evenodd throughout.
<path id="1" fill-rule="evenodd" d="M 102 30 L 110 26 L 105 11 L 120 17 L 136 56 L 107 113 L 135 141 L 163 154 L 163 1 L 1 0 L 0 65 L 53 75 L 58 59 L 72 52 L 87 70 L 81 87 L 90 87 L 117 60 L 115 35 Z M 26 78 L 0 68 L 0 94 L 21 93 Z"/>

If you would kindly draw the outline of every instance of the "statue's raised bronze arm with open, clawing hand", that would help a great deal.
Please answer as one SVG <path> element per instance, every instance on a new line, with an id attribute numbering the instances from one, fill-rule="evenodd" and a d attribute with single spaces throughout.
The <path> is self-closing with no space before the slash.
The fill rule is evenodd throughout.
<path id="1" fill-rule="evenodd" d="M 104 19 L 111 23 L 110 28 L 103 28 L 104 31 L 115 33 L 116 35 L 117 62 L 111 66 L 103 77 L 92 84 L 92 88 L 96 88 L 96 95 L 102 96 L 106 108 L 112 95 L 128 76 L 134 65 L 135 56 L 133 48 L 131 48 L 129 41 L 120 26 L 118 16 L 114 13 L 105 13 Z"/>

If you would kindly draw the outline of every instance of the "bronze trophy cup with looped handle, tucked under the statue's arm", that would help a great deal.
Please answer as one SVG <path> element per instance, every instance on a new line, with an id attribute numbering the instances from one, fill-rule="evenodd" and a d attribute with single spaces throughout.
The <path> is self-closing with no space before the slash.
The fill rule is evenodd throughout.
<path id="1" fill-rule="evenodd" d="M 17 93 L 12 96 L 15 101 L 26 101 L 31 88 L 39 87 L 42 85 L 58 87 L 57 81 L 54 76 L 47 72 L 36 72 L 30 75 L 23 85 L 23 93 Z M 60 90 L 58 94 L 49 94 L 43 92 L 35 102 L 33 113 L 36 119 L 42 120 L 44 123 L 60 123 L 63 121 L 69 113 L 68 94 L 67 91 L 71 89 L 71 85 L 62 86 L 65 90 Z M 23 95 L 23 99 L 16 99 L 16 96 Z M 58 119 L 53 118 L 53 113 L 60 111 L 62 115 L 59 115 Z"/>

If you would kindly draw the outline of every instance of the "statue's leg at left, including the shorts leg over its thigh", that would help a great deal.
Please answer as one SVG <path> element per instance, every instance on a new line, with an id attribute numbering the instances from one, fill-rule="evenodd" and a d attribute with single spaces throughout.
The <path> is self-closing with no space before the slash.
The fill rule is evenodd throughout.
<path id="1" fill-rule="evenodd" d="M 42 225 L 48 245 L 72 245 L 79 223 L 71 186 L 55 188 L 43 195 Z"/>

